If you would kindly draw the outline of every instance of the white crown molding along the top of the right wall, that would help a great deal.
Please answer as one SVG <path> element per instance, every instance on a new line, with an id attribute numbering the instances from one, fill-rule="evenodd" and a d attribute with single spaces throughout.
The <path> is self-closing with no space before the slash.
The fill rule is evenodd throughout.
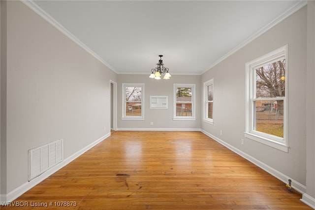
<path id="1" fill-rule="evenodd" d="M 271 28 L 273 28 L 274 26 L 276 26 L 277 24 L 282 22 L 284 19 L 286 19 L 287 17 L 291 16 L 293 13 L 295 13 L 296 11 L 298 11 L 299 9 L 301 9 L 302 7 L 304 7 L 306 5 L 307 5 L 307 0 L 300 0 L 300 1 L 298 1 L 291 8 L 287 9 L 283 14 L 281 14 L 278 18 L 273 20 L 271 23 L 267 24 L 265 27 L 263 27 L 262 29 L 257 31 L 255 34 L 253 34 L 250 37 L 248 37 L 247 39 L 245 39 L 242 43 L 237 45 L 234 49 L 232 49 L 231 51 L 229 51 L 228 53 L 223 55 L 215 63 L 213 63 L 207 70 L 200 72 L 200 74 L 203 74 L 206 71 L 212 69 L 214 66 L 218 65 L 223 60 L 225 60 L 226 58 L 228 58 L 229 56 L 231 56 L 232 54 L 234 54 L 235 52 L 237 52 L 238 50 L 240 50 L 241 48 L 243 48 L 244 46 L 246 46 L 247 44 L 252 42 L 254 39 L 259 37 L 263 33 L 267 32 L 268 30 L 270 30 Z"/>

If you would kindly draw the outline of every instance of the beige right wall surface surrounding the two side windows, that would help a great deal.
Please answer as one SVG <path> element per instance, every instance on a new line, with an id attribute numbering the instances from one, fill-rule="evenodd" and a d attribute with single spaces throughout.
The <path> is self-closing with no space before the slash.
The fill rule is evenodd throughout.
<path id="1" fill-rule="evenodd" d="M 202 82 L 214 78 L 215 88 L 214 125 L 202 123 L 202 129 L 302 185 L 306 185 L 306 23 L 304 7 L 202 75 Z M 245 64 L 285 44 L 289 46 L 288 153 L 244 137 Z"/>

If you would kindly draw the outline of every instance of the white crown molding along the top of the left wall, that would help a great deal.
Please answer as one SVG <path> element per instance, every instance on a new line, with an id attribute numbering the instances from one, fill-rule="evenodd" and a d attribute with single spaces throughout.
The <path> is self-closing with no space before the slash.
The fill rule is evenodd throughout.
<path id="1" fill-rule="evenodd" d="M 98 56 L 92 49 L 90 49 L 87 45 L 85 45 L 82 41 L 80 41 L 76 36 L 71 34 L 68 30 L 66 30 L 57 20 L 51 17 L 47 12 L 45 12 L 42 8 L 40 8 L 33 0 L 21 0 L 25 5 L 31 8 L 35 13 L 37 13 L 40 17 L 54 26 L 61 33 L 66 35 L 72 41 L 74 41 L 77 45 L 82 47 L 85 51 L 90 53 L 93 57 L 95 57 L 98 61 L 108 67 L 110 70 L 118 73 L 111 65 L 109 65 L 106 61 L 104 61 L 100 56 Z"/>

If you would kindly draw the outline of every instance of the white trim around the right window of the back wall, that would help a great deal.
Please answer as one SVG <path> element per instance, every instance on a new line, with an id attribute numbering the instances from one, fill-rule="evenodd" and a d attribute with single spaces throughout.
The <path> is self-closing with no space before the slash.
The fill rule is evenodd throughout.
<path id="1" fill-rule="evenodd" d="M 191 88 L 191 116 L 176 116 L 176 90 L 179 87 L 190 87 Z M 196 95 L 196 85 L 195 84 L 174 84 L 174 103 L 173 103 L 173 120 L 196 120 L 195 110 L 196 110 L 196 104 L 195 104 L 195 95 Z"/>

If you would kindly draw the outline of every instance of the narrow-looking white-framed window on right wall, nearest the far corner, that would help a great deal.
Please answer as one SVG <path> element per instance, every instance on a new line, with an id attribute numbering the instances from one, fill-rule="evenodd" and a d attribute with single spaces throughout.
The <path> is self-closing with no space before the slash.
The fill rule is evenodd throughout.
<path id="1" fill-rule="evenodd" d="M 203 121 L 213 124 L 213 79 L 203 83 L 204 88 L 204 117 Z"/>

